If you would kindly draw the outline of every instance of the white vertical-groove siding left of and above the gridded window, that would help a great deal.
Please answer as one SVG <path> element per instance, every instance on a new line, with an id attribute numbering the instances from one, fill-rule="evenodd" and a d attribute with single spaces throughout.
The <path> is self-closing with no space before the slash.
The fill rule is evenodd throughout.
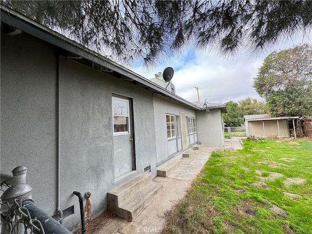
<path id="1" fill-rule="evenodd" d="M 162 98 L 154 97 L 153 102 L 156 125 L 156 153 L 157 163 L 159 163 L 173 154 L 172 147 L 170 147 L 170 152 L 168 150 L 166 114 L 179 116 L 180 112 L 185 112 L 186 117 L 196 117 L 196 113 L 195 110 L 187 109 Z M 170 143 L 170 146 L 172 145 L 174 143 Z"/>

